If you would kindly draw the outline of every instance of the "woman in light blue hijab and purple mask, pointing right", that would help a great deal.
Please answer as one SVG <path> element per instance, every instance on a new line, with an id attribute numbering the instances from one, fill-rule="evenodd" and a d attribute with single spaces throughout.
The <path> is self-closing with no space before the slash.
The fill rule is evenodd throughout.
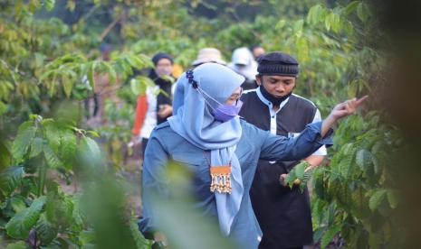
<path id="1" fill-rule="evenodd" d="M 187 165 L 196 175 L 195 207 L 215 217 L 222 235 L 239 248 L 257 248 L 262 231 L 254 217 L 249 190 L 259 159 L 300 160 L 321 145 L 331 145 L 330 126 L 353 114 L 366 98 L 335 106 L 323 122 L 309 124 L 296 138 L 286 138 L 248 124 L 238 116 L 244 77 L 216 63 L 188 70 L 177 81 L 174 113 L 150 136 L 143 162 L 142 232 L 158 231 L 151 193 L 166 195 L 167 161 Z"/>

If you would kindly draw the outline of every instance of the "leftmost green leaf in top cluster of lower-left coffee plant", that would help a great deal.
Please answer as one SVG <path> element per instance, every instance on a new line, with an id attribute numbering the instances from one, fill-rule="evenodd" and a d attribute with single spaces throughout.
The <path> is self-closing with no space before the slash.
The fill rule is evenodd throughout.
<path id="1" fill-rule="evenodd" d="M 19 126 L 17 136 L 12 145 L 12 154 L 16 161 L 22 161 L 33 141 L 33 138 L 35 137 L 35 134 L 36 128 L 33 126 L 32 121 L 24 122 L 24 124 Z"/>

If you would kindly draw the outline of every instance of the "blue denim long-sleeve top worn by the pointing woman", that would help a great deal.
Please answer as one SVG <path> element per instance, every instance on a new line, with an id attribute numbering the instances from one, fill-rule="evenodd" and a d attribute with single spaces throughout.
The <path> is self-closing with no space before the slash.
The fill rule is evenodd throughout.
<path id="1" fill-rule="evenodd" d="M 254 179 L 257 161 L 295 161 L 306 158 L 322 145 L 331 145 L 332 131 L 321 138 L 321 122 L 308 124 L 301 135 L 295 138 L 270 134 L 253 124 L 241 120 L 243 133 L 236 146 L 235 154 L 240 162 L 244 196 L 241 206 L 231 227 L 229 235 L 239 245 L 239 248 L 257 248 L 262 237 L 262 231 L 250 201 L 249 190 Z M 154 212 L 150 205 L 148 193 L 167 194 L 167 180 L 162 179 L 162 172 L 166 171 L 167 161 L 174 160 L 194 172 L 195 180 L 192 189 L 195 191 L 195 207 L 201 208 L 204 216 L 217 217 L 215 195 L 209 190 L 211 177 L 206 152 L 197 148 L 186 139 L 176 134 L 163 123 L 152 132 L 143 161 L 143 218 L 139 221 L 142 232 L 156 231 Z M 217 219 L 216 219 L 217 220 Z M 187 221 L 188 223 L 188 221 Z"/>

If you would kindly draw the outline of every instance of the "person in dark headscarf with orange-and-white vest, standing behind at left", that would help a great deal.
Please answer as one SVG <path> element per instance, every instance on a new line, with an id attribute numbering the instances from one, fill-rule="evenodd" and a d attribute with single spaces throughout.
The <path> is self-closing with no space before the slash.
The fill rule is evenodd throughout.
<path id="1" fill-rule="evenodd" d="M 165 78 L 172 75 L 173 57 L 165 52 L 158 52 L 152 62 L 155 68 L 149 70 L 148 77 L 154 81 L 155 86 L 148 87 L 145 94 L 139 95 L 132 129 L 131 143 L 141 143 L 142 152 L 145 152 L 153 128 L 167 121 L 173 111 L 173 84 Z"/>

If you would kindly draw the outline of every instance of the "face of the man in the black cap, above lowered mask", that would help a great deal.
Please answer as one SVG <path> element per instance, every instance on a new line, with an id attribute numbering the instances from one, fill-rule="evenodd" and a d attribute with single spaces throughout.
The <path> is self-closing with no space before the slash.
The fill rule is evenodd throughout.
<path id="1" fill-rule="evenodd" d="M 292 76 L 263 75 L 257 76 L 256 81 L 259 85 L 263 83 L 263 88 L 273 97 L 284 97 L 295 88 L 295 77 Z"/>

